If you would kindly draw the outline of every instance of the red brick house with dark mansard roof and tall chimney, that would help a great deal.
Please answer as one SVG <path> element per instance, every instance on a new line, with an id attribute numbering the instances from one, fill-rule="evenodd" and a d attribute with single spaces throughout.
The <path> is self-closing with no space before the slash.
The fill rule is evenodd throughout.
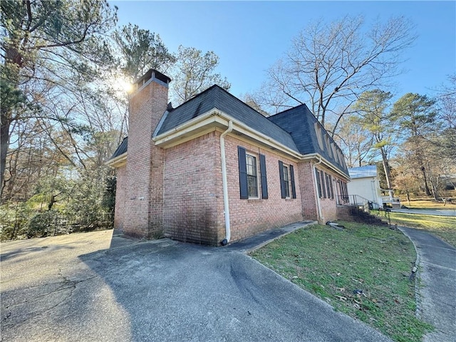
<path id="1" fill-rule="evenodd" d="M 117 169 L 115 228 L 224 245 L 303 219 L 336 219 L 348 170 L 306 105 L 269 118 L 212 86 L 177 108 L 150 70 L 130 95 Z"/>

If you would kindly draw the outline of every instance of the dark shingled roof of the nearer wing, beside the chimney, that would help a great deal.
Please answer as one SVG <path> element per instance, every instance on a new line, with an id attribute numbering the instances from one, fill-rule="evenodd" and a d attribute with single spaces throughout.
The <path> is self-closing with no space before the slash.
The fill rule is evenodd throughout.
<path id="1" fill-rule="evenodd" d="M 198 115 L 207 113 L 212 108 L 217 108 L 227 113 L 232 118 L 241 121 L 245 125 L 263 133 L 268 137 L 298 152 L 298 147 L 294 143 L 289 133 L 282 130 L 279 126 L 267 120 L 263 115 L 254 110 L 249 105 L 234 97 L 227 90 L 217 85 L 204 90 L 199 95 L 182 103 L 179 107 L 168 112 L 162 122 L 162 126 L 157 135 L 166 133 L 187 121 L 196 118 Z"/>

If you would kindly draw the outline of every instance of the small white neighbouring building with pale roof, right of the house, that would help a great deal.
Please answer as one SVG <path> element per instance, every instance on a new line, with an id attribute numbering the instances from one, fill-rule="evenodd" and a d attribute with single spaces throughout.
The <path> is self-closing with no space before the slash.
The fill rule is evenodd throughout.
<path id="1" fill-rule="evenodd" d="M 356 195 L 383 207 L 382 190 L 377 175 L 377 165 L 349 167 L 351 181 L 348 182 L 348 195 Z M 353 202 L 353 199 L 350 199 Z"/>

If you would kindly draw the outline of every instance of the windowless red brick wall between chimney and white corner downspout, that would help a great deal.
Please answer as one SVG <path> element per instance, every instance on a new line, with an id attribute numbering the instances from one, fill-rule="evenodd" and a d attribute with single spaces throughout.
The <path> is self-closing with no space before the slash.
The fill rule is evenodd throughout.
<path id="1" fill-rule="evenodd" d="M 212 245 L 224 238 L 220 147 L 215 132 L 166 150 L 164 199 L 165 236 Z"/>

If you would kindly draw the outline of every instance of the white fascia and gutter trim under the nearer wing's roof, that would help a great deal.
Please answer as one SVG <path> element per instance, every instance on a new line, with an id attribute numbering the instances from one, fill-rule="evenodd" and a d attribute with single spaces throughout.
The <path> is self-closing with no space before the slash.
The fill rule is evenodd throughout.
<path id="1" fill-rule="evenodd" d="M 272 138 L 269 138 L 263 133 L 259 133 L 257 130 L 250 128 L 249 126 L 245 125 L 239 120 L 232 118 L 230 115 L 222 112 L 222 110 L 219 110 L 217 108 L 212 108 L 212 110 L 209 110 L 209 112 L 204 113 L 203 115 L 199 115 L 197 118 L 187 121 L 187 123 L 177 126 L 173 130 L 169 130 L 168 132 L 157 135 L 156 137 L 152 138 L 152 140 L 154 140 L 155 145 L 160 145 L 169 140 L 178 138 L 180 135 L 190 133 L 192 130 L 196 130 L 197 128 L 201 128 L 204 125 L 208 125 L 209 123 L 219 123 L 228 127 L 229 121 L 232 121 L 233 123 L 233 130 L 239 133 L 254 138 L 259 142 L 263 142 L 264 144 L 274 147 L 276 150 L 285 152 L 287 155 L 291 155 L 297 159 L 301 159 L 303 157 L 301 153 L 291 150 L 291 148 L 286 147 L 285 145 L 277 142 Z"/>

